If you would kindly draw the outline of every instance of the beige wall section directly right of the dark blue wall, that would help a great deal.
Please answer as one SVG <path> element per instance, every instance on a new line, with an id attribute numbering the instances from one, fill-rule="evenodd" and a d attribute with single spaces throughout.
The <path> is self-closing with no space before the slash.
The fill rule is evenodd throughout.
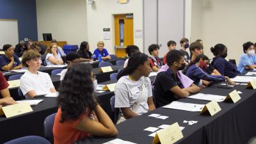
<path id="1" fill-rule="evenodd" d="M 36 17 L 38 40 L 42 33 L 71 45 L 88 40 L 86 0 L 36 0 Z"/>

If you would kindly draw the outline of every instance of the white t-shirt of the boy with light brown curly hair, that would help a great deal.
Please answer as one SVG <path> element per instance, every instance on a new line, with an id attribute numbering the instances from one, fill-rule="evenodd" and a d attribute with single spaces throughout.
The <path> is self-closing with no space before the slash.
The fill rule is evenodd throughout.
<path id="1" fill-rule="evenodd" d="M 38 74 L 32 74 L 25 72 L 20 77 L 20 90 L 26 98 L 28 98 L 28 92 L 35 90 L 36 95 L 45 95 L 51 93 L 50 89 L 54 88 L 51 77 L 45 72 L 38 72 Z"/>

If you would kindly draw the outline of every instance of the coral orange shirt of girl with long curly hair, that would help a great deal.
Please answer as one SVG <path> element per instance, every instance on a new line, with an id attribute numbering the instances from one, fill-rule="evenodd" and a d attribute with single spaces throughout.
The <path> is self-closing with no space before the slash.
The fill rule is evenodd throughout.
<path id="1" fill-rule="evenodd" d="M 76 125 L 79 124 L 82 118 L 86 117 L 88 116 L 83 114 L 77 120 L 65 120 L 65 122 L 60 123 L 61 108 L 59 108 L 58 112 L 56 113 L 52 129 L 54 144 L 70 144 L 82 138 L 91 136 L 91 134 L 76 129 Z"/>

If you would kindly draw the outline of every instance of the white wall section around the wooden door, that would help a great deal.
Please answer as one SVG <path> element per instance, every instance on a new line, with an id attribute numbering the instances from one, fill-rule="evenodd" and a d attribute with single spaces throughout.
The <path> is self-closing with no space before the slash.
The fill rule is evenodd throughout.
<path id="1" fill-rule="evenodd" d="M 97 42 L 103 41 L 110 54 L 115 54 L 115 14 L 133 13 L 133 30 L 143 29 L 143 0 L 129 0 L 127 4 L 119 4 L 116 0 L 95 0 L 93 5 L 87 4 L 88 41 L 91 51 L 97 47 Z M 103 40 L 103 28 L 110 28 L 111 40 Z M 143 51 L 143 38 L 135 38 L 134 45 Z"/>

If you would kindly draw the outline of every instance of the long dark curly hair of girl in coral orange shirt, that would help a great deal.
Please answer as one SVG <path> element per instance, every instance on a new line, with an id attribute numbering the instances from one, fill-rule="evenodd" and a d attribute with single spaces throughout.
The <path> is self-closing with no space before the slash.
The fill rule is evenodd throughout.
<path id="1" fill-rule="evenodd" d="M 97 105 L 93 96 L 91 78 L 92 66 L 79 63 L 70 67 L 61 81 L 57 102 L 61 108 L 61 120 L 77 120 L 86 113 L 88 116 Z"/>

